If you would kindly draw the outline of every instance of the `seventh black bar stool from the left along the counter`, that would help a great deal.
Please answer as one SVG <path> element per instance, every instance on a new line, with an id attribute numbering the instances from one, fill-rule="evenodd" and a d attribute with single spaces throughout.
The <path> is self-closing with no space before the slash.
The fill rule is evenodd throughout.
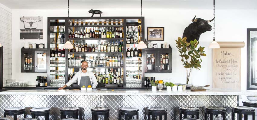
<path id="1" fill-rule="evenodd" d="M 191 115 L 191 118 L 195 118 L 196 116 L 199 119 L 199 108 L 197 107 L 179 107 L 179 113 L 180 120 L 182 120 L 182 114 L 184 115 L 184 119 L 187 118 L 187 115 Z"/>

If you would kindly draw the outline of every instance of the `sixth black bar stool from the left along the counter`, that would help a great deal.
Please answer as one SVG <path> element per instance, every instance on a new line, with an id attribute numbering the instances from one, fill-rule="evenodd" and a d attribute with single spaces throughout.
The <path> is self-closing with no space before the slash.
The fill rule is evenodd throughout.
<path id="1" fill-rule="evenodd" d="M 167 120 L 167 109 L 164 107 L 148 107 L 148 120 L 155 120 L 155 116 L 159 116 L 159 119 L 162 120 L 162 115 L 164 115 L 164 120 Z"/>

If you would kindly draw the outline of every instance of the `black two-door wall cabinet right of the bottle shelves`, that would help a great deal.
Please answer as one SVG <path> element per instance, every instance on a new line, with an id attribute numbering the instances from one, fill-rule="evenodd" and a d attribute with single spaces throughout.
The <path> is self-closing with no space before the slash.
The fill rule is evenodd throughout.
<path id="1" fill-rule="evenodd" d="M 146 48 L 145 72 L 172 72 L 172 48 Z"/>

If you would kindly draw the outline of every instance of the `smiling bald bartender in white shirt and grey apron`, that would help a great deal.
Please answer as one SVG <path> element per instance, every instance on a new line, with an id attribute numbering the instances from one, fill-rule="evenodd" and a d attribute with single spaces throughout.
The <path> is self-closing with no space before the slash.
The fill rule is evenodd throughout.
<path id="1" fill-rule="evenodd" d="M 90 72 L 87 70 L 88 68 L 88 63 L 86 61 L 82 62 L 82 70 L 77 72 L 73 78 L 66 83 L 63 87 L 59 88 L 58 90 L 61 90 L 63 88 L 66 88 L 70 86 L 71 84 L 75 83 L 78 80 L 78 84 L 80 85 L 80 88 L 82 86 L 88 86 L 92 85 L 92 88 L 96 88 L 97 86 L 97 80 L 93 72 Z M 93 83 L 93 84 L 92 84 Z"/>

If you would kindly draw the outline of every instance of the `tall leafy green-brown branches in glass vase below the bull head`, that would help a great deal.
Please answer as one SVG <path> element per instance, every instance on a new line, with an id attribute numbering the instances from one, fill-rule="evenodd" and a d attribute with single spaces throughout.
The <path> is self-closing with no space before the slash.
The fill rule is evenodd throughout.
<path id="1" fill-rule="evenodd" d="M 190 73 L 193 68 L 199 69 L 201 68 L 201 62 L 202 59 L 201 56 L 206 56 L 204 54 L 205 51 L 204 47 L 199 47 L 197 49 L 198 41 L 195 39 L 194 41 L 190 41 L 190 43 L 187 43 L 187 37 L 177 38 L 176 44 L 178 51 L 180 53 L 180 56 L 182 57 L 181 61 L 183 62 L 184 68 L 187 70 L 187 84 L 189 82 Z M 188 50 L 187 50 L 188 49 Z"/>

